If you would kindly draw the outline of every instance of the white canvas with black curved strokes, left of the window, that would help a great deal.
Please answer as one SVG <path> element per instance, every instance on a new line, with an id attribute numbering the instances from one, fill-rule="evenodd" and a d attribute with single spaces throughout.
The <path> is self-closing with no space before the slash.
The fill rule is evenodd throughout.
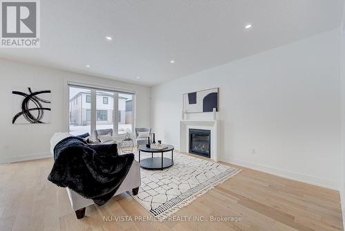
<path id="1" fill-rule="evenodd" d="M 12 91 L 12 124 L 50 123 L 50 90 L 31 87 L 16 88 Z"/>

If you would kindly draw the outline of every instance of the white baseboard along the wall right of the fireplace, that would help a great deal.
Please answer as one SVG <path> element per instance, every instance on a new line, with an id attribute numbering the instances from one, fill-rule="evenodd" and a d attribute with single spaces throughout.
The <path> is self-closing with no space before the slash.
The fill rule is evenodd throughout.
<path id="1" fill-rule="evenodd" d="M 331 190 L 339 191 L 339 183 L 337 181 L 330 181 L 330 180 L 325 179 L 325 178 L 318 178 L 315 176 L 308 176 L 305 174 L 289 172 L 289 171 L 286 171 L 284 169 L 277 169 L 275 167 L 270 167 L 270 166 L 266 166 L 266 165 L 259 165 L 256 163 L 250 163 L 250 162 L 247 162 L 244 160 L 238 160 L 235 158 L 221 157 L 220 160 L 225 162 L 225 163 L 229 163 L 229 164 L 233 164 L 233 165 L 239 165 L 242 167 L 248 167 L 249 169 L 254 169 L 254 170 L 257 170 L 260 172 L 273 174 L 275 176 L 281 176 L 281 177 L 288 178 L 288 179 L 293 180 L 293 181 L 300 181 L 303 183 L 308 183 L 311 185 L 317 185 L 319 187 L 326 187 L 326 188 L 331 189 Z"/>

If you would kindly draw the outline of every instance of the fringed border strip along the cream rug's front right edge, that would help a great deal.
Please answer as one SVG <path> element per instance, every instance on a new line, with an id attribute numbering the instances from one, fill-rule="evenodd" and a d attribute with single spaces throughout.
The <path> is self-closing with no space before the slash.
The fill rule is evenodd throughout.
<path id="1" fill-rule="evenodd" d="M 164 221 L 164 220 L 168 219 L 168 217 L 171 216 L 172 214 L 175 214 L 177 211 L 181 210 L 181 208 L 186 207 L 187 205 L 189 205 L 190 203 L 195 201 L 199 196 L 206 194 L 206 192 L 212 190 L 213 188 L 215 188 L 215 186 L 217 186 L 221 183 L 224 183 L 224 181 L 227 181 L 229 178 L 232 178 L 233 176 L 239 174 L 239 172 L 242 172 L 242 169 L 237 169 L 234 172 L 232 172 L 231 174 L 228 174 L 227 176 L 224 176 L 223 178 L 219 179 L 218 181 L 211 183 L 210 185 L 208 185 L 208 187 L 205 187 L 204 189 L 200 190 L 196 194 L 189 196 L 188 198 L 184 199 L 184 201 L 181 201 L 177 205 L 170 207 L 170 209 L 166 210 L 165 212 L 162 212 L 161 214 L 159 214 L 157 216 L 155 216 L 155 214 L 152 214 L 152 212 L 150 212 L 150 213 L 153 216 L 155 216 L 155 218 L 158 219 L 159 221 Z"/>

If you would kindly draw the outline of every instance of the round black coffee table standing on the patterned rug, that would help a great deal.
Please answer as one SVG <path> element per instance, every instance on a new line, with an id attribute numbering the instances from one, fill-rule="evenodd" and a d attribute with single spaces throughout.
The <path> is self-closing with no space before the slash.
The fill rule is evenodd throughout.
<path id="1" fill-rule="evenodd" d="M 150 158 L 145 158 L 140 160 L 140 152 L 148 152 L 151 153 Z M 171 151 L 171 159 L 164 157 L 164 153 Z M 153 154 L 161 154 L 161 157 L 153 157 Z M 146 145 L 139 146 L 139 163 L 141 167 L 144 169 L 165 169 L 174 165 L 174 146 L 168 145 L 165 149 L 157 150 L 157 149 L 150 149 L 146 147 Z"/>

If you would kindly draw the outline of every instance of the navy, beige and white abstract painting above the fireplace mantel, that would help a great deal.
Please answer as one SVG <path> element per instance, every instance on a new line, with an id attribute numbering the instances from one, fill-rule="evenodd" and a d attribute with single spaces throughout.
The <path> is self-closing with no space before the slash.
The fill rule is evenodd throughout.
<path id="1" fill-rule="evenodd" d="M 219 89 L 208 89 L 184 94 L 184 113 L 218 111 Z"/>

